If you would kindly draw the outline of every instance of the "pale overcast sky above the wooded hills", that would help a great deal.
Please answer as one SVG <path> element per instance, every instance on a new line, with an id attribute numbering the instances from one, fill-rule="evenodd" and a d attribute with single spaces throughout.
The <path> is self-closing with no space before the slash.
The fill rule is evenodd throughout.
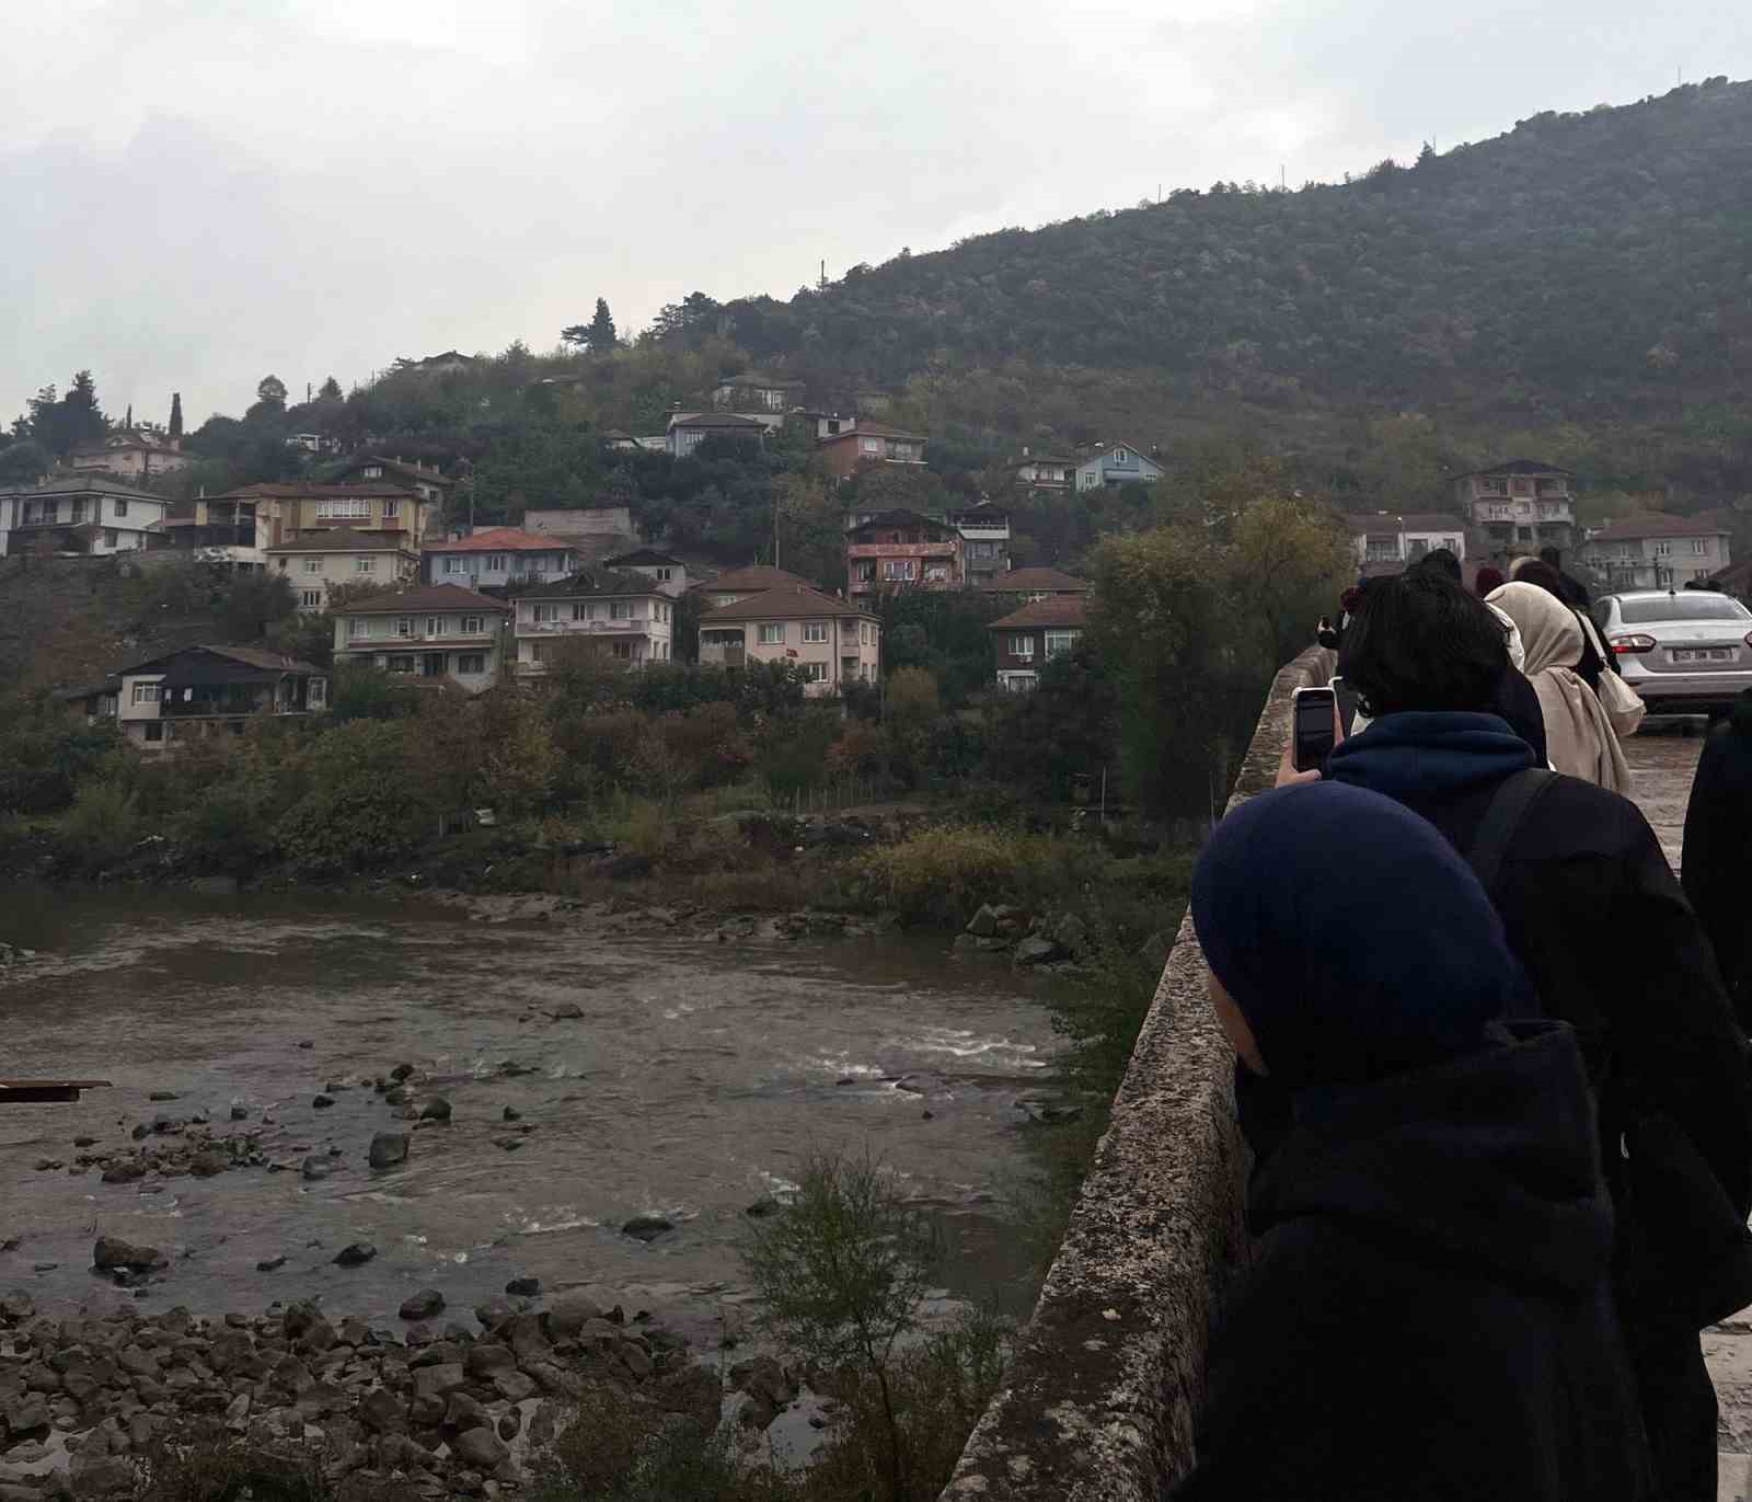
<path id="1" fill-rule="evenodd" d="M 189 426 L 902 245 L 1752 75 L 1748 0 L 51 0 L 0 16 L 0 421 Z"/>

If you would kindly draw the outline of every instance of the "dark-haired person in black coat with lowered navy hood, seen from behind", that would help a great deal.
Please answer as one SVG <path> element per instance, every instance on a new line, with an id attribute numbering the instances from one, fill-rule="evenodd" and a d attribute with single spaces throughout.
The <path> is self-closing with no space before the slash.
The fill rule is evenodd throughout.
<path id="1" fill-rule="evenodd" d="M 1325 776 L 1395 799 L 1486 871 L 1545 1015 L 1577 1031 L 1657 1495 L 1710 1502 L 1699 1332 L 1752 1304 L 1752 1073 L 1708 938 L 1636 804 L 1544 769 L 1493 712 L 1510 666 L 1487 605 L 1428 571 L 1379 580 L 1339 671 L 1370 726 Z M 1335 859 L 1354 871 L 1342 845 Z M 1268 1120 L 1272 1092 L 1247 1106 Z"/>

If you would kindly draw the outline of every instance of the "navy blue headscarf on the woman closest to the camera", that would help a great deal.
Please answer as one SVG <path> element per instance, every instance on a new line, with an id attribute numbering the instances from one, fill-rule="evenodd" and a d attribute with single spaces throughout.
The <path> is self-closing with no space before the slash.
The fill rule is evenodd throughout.
<path id="1" fill-rule="evenodd" d="M 1261 794 L 1193 873 L 1205 959 L 1274 1081 L 1367 1085 L 1537 1008 L 1484 889 L 1433 824 L 1360 787 Z"/>

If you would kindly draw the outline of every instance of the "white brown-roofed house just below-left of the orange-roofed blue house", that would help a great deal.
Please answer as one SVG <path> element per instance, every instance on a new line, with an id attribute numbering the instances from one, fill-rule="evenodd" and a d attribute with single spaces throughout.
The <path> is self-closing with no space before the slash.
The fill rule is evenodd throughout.
<path id="1" fill-rule="evenodd" d="M 449 680 L 478 694 L 505 670 L 510 617 L 503 599 L 456 584 L 394 589 L 335 612 L 335 661 Z"/>

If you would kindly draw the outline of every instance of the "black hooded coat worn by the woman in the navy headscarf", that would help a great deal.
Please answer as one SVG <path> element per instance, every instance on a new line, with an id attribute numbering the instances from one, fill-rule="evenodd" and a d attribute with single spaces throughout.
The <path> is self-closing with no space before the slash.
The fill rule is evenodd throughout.
<path id="1" fill-rule="evenodd" d="M 1298 1113 L 1247 1195 L 1181 1502 L 1649 1497 L 1575 1039 Z"/>

